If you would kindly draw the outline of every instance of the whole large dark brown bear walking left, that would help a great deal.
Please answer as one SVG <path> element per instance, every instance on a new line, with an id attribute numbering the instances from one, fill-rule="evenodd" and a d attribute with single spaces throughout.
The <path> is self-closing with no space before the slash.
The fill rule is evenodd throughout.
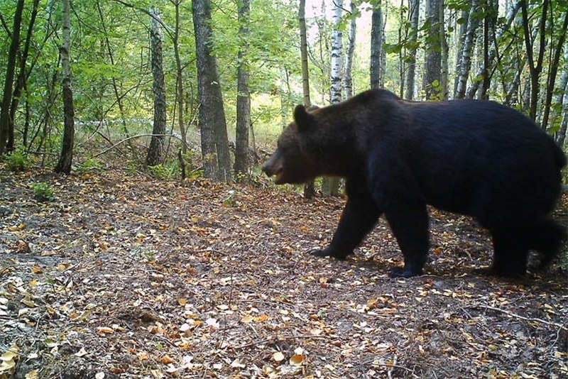
<path id="1" fill-rule="evenodd" d="M 565 233 L 548 216 L 564 165 L 552 138 L 506 106 L 405 101 L 378 89 L 312 111 L 297 106 L 263 170 L 276 184 L 344 177 L 332 243 L 312 253 L 346 258 L 384 214 L 405 260 L 391 275 L 408 278 L 426 262 L 427 204 L 474 216 L 491 232 L 496 275 L 525 274 L 529 250 L 549 263 Z"/>

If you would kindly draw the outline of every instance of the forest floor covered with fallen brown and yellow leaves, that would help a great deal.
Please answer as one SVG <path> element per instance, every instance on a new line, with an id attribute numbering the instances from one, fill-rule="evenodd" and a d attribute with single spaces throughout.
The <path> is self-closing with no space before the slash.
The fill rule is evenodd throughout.
<path id="1" fill-rule="evenodd" d="M 343 204 L 0 171 L 0 378 L 568 377 L 566 265 L 488 277 L 488 234 L 436 211 L 420 278 L 388 278 L 385 221 L 348 260 L 307 255 Z"/>

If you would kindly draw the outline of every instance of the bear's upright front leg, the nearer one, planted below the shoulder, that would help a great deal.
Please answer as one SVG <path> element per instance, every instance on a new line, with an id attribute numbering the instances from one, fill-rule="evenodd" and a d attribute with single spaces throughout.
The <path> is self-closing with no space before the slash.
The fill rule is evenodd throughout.
<path id="1" fill-rule="evenodd" d="M 406 200 L 389 202 L 385 212 L 388 224 L 404 255 L 404 268 L 392 268 L 392 278 L 422 275 L 430 248 L 426 204 Z"/>

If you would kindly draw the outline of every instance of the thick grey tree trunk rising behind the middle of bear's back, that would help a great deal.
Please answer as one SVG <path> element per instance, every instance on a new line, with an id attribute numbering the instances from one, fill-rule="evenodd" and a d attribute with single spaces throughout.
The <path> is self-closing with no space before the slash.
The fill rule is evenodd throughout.
<path id="1" fill-rule="evenodd" d="M 442 89 L 442 48 L 443 22 L 440 19 L 440 7 L 443 0 L 426 0 L 426 19 L 430 23 L 427 31 L 427 45 L 425 57 L 424 89 L 426 99 L 440 99 Z"/>

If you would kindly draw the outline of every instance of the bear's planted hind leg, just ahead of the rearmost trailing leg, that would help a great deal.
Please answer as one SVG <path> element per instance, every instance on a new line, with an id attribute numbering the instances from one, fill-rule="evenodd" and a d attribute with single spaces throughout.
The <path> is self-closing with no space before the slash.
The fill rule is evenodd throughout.
<path id="1" fill-rule="evenodd" d="M 490 275 L 520 278 L 527 273 L 528 243 L 523 228 L 509 226 L 493 229 L 493 264 Z"/>

